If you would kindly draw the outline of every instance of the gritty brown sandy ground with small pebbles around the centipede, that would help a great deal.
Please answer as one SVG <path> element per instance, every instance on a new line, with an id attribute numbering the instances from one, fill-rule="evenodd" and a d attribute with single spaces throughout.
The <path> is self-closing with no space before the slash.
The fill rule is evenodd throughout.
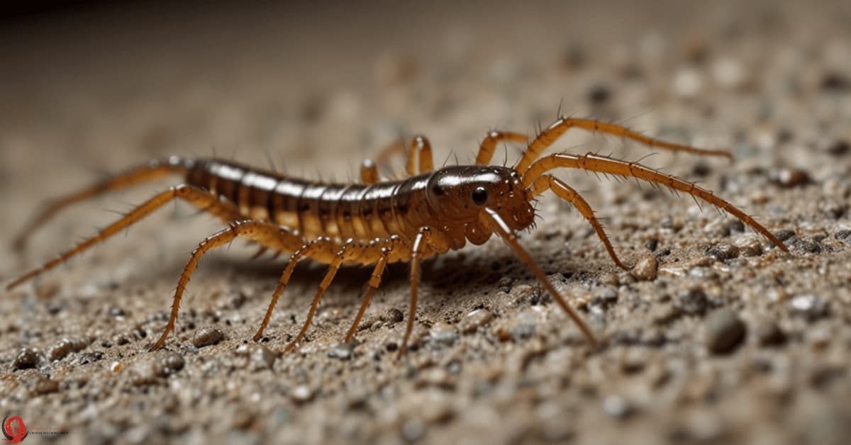
<path id="1" fill-rule="evenodd" d="M 700 182 L 784 254 L 687 196 L 559 173 L 621 271 L 553 198 L 523 245 L 605 339 L 592 350 L 502 242 L 426 265 L 411 351 L 392 267 L 341 345 L 368 270 L 341 271 L 307 339 L 280 355 L 323 275 L 253 248 L 204 260 L 164 351 L 188 252 L 220 228 L 169 206 L 36 282 L 0 291 L 0 410 L 25 443 L 844 443 L 851 435 L 848 2 L 134 3 L 0 28 L 0 277 L 8 282 L 180 178 L 81 203 L 9 247 L 49 197 L 171 154 L 351 180 L 399 134 L 467 163 L 492 128 L 563 112 L 735 162 L 568 132 L 589 151 Z M 513 162 L 522 147 L 500 147 Z M 654 156 L 645 157 L 650 153 Z M 453 156 L 454 155 L 454 156 Z M 401 159 L 395 170 L 401 170 Z M 107 210 L 107 211 L 105 211 Z M 38 431 L 64 431 L 46 435 Z"/>

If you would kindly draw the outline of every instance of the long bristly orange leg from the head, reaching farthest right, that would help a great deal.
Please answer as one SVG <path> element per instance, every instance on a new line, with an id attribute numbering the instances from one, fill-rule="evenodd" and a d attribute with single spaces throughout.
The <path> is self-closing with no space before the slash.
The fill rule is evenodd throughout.
<path id="1" fill-rule="evenodd" d="M 526 174 L 523 174 L 523 185 L 529 186 L 534 184 L 542 174 L 555 168 L 579 168 L 598 173 L 615 174 L 618 176 L 633 177 L 639 180 L 646 180 L 656 184 L 665 185 L 673 190 L 684 191 L 693 197 L 698 197 L 706 203 L 710 203 L 717 208 L 721 208 L 728 214 L 741 220 L 746 225 L 749 225 L 753 230 L 757 231 L 763 237 L 768 238 L 768 241 L 774 243 L 775 246 L 788 252 L 785 247 L 773 233 L 760 225 L 757 220 L 754 220 L 750 215 L 745 214 L 740 208 L 735 207 L 732 203 L 728 203 L 720 197 L 712 194 L 711 191 L 700 187 L 694 183 L 677 179 L 671 174 L 660 173 L 653 168 L 645 167 L 639 163 L 629 163 L 620 161 L 611 157 L 605 157 L 588 153 L 585 155 L 570 155 L 559 153 L 540 158 L 537 162 L 528 168 Z"/>

